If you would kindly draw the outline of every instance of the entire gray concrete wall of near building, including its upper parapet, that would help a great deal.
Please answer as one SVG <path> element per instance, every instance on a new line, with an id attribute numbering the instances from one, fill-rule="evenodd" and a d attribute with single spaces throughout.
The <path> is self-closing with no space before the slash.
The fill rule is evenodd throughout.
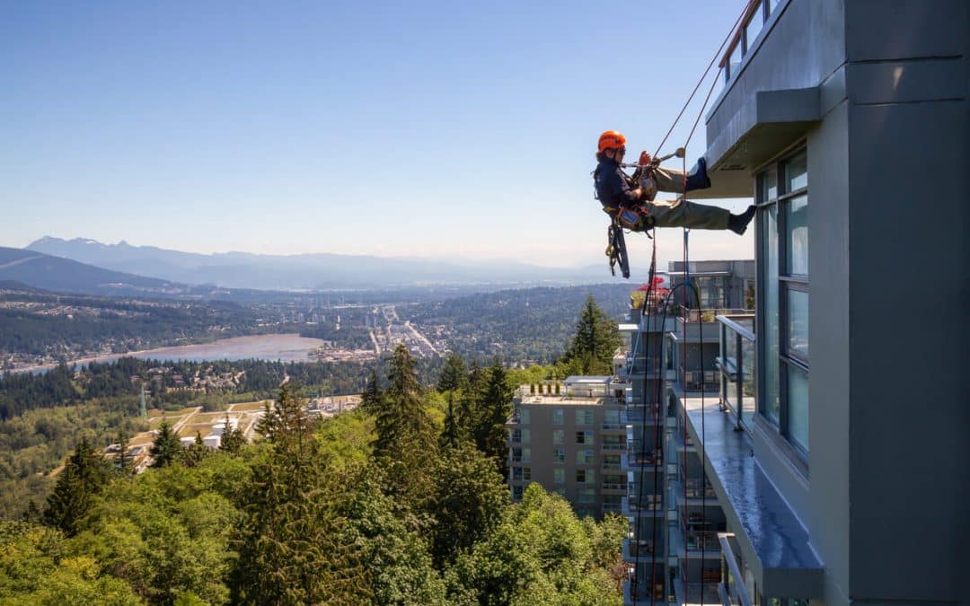
<path id="1" fill-rule="evenodd" d="M 767 142 L 808 147 L 807 485 L 757 431 L 756 458 L 808 526 L 825 603 L 962 603 L 970 3 L 779 6 L 707 121 L 709 144 L 740 137 L 758 91 L 820 86 L 822 122 Z"/>

